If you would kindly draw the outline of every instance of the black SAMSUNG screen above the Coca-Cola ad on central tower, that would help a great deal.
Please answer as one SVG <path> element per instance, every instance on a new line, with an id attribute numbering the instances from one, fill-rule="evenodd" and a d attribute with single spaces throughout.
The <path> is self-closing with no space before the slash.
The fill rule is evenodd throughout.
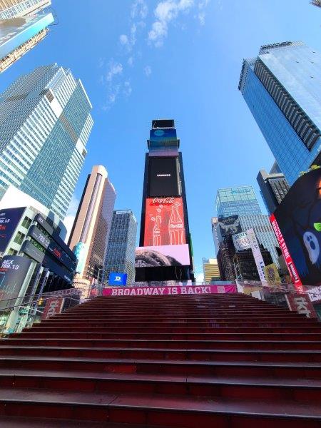
<path id="1" fill-rule="evenodd" d="M 149 197 L 180 196 L 177 157 L 151 157 L 148 165 Z"/>

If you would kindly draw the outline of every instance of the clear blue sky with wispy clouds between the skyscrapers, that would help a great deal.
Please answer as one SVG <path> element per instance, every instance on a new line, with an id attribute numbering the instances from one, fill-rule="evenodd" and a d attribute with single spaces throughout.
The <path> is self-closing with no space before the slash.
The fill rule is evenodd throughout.
<path id="1" fill-rule="evenodd" d="M 131 208 L 139 228 L 151 121 L 174 118 L 195 269 L 201 272 L 202 257 L 214 256 L 210 218 L 216 190 L 253 185 L 260 200 L 258 170 L 273 163 L 238 91 L 242 60 L 256 56 L 260 45 L 278 41 L 302 40 L 321 51 L 321 9 L 308 0 L 52 3 L 58 24 L 1 74 L 0 91 L 19 74 L 54 62 L 83 81 L 95 124 L 68 220 L 86 175 L 101 163 L 115 185 L 116 208 Z"/>

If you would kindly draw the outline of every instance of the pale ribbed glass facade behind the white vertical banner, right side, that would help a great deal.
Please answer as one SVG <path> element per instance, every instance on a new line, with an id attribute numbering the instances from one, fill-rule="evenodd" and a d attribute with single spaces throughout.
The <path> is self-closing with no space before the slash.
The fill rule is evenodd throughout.
<path id="1" fill-rule="evenodd" d="M 279 247 L 279 244 L 273 232 L 269 216 L 265 214 L 239 215 L 238 218 L 243 232 L 253 229 L 259 243 L 267 249 L 272 257 L 273 263 L 278 266 L 279 255 L 277 254 L 276 248 Z"/>

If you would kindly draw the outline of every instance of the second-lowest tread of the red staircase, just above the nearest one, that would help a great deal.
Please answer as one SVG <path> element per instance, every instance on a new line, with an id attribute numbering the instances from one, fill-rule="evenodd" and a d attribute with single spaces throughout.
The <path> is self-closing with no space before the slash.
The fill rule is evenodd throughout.
<path id="1" fill-rule="evenodd" d="M 321 387 L 321 379 L 288 379 L 286 377 L 224 377 L 224 376 L 196 376 L 180 374 L 141 374 L 141 373 L 104 373 L 74 371 L 68 374 L 58 370 L 24 370 L 0 369 L 0 379 L 11 377 L 54 377 L 62 379 L 108 379 L 126 380 L 127 382 L 178 382 L 194 384 L 229 384 L 229 385 L 259 385 L 273 387 Z"/>

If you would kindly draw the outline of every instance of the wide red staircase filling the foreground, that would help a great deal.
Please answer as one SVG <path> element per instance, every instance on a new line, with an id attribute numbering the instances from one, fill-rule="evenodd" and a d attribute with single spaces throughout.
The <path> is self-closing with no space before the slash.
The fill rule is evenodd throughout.
<path id="1" fill-rule="evenodd" d="M 0 427 L 320 428 L 320 362 L 252 297 L 96 297 L 0 341 Z"/>

